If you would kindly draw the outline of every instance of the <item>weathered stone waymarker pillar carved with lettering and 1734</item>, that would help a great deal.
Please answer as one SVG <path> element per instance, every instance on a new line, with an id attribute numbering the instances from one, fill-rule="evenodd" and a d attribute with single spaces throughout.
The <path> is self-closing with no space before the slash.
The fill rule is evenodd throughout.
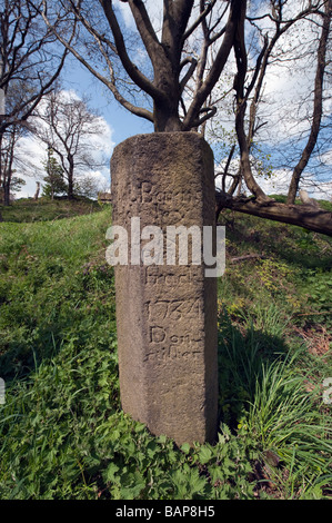
<path id="1" fill-rule="evenodd" d="M 129 241 L 133 228 L 214 224 L 213 155 L 195 132 L 129 138 L 114 149 L 111 180 L 112 224 Z M 167 265 L 165 254 L 148 265 L 131 241 L 128 265 L 114 268 L 122 408 L 179 445 L 217 433 L 217 280 L 190 262 L 189 249 L 185 265 Z"/>

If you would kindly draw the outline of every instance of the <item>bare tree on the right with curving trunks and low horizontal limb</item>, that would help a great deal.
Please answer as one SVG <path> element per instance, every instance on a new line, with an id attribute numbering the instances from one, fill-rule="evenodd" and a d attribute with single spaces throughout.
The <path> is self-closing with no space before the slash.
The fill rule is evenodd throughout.
<path id="1" fill-rule="evenodd" d="M 224 188 L 224 178 L 230 175 L 230 160 L 234 155 L 234 147 L 230 147 L 229 160 L 225 162 L 223 170 L 223 190 L 218 194 L 218 214 L 224 207 L 232 208 L 242 213 L 254 214 L 264 218 L 285 221 L 295 225 L 302 225 L 312 230 L 332 235 L 332 216 L 322 209 L 313 209 L 312 207 L 295 207 L 295 196 L 299 190 L 301 176 L 312 156 L 314 147 L 318 142 L 319 132 L 321 130 L 321 121 L 323 114 L 323 80 L 328 65 L 328 41 L 331 34 L 330 21 L 332 13 L 332 2 L 316 1 L 305 2 L 306 6 L 302 10 L 290 18 L 284 16 L 283 9 L 288 2 L 274 1 L 270 2 L 270 11 L 265 11 L 258 17 L 248 17 L 247 19 L 258 29 L 259 19 L 269 17 L 274 30 L 263 32 L 260 30 L 261 49 L 256 52 L 255 66 L 249 70 L 248 67 L 248 49 L 245 43 L 244 17 L 241 24 L 241 32 L 238 33 L 234 51 L 237 59 L 237 75 L 234 78 L 234 89 L 237 97 L 235 105 L 235 131 L 238 137 L 238 146 L 240 149 L 240 169 L 232 175 L 232 184 L 228 191 Z M 319 26 L 320 36 L 318 40 L 318 49 L 315 50 L 316 72 L 313 87 L 312 115 L 310 117 L 311 125 L 306 144 L 300 151 L 300 160 L 295 162 L 290 187 L 288 189 L 288 205 L 271 201 L 261 189 L 260 184 L 254 178 L 252 165 L 254 161 L 253 146 L 260 140 L 259 131 L 268 124 L 258 118 L 259 106 L 262 101 L 262 91 L 266 81 L 266 71 L 273 61 L 290 61 L 290 67 L 295 67 L 294 62 L 299 56 L 290 59 L 278 55 L 275 51 L 279 40 L 290 31 L 290 29 L 300 21 L 308 19 L 311 23 Z M 303 50 L 302 50 L 303 51 Z M 279 51 L 280 52 L 280 51 Z M 311 51 L 312 52 L 312 51 Z M 284 55 L 284 51 L 283 51 Z M 303 72 L 302 72 L 303 73 Z M 303 101 L 303 100 L 302 100 Z M 269 103 L 269 100 L 268 100 Z M 290 146 L 289 146 L 290 147 Z M 299 154 L 299 152 L 298 152 Z M 254 199 L 233 198 L 234 190 L 241 180 L 244 179 L 245 185 Z M 286 190 L 286 187 L 285 187 Z"/>

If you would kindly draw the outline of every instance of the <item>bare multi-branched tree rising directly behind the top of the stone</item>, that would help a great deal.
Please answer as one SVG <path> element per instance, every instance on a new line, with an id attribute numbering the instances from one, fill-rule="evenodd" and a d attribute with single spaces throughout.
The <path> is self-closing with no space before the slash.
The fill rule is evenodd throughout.
<path id="1" fill-rule="evenodd" d="M 188 110 L 185 110 L 185 115 L 182 116 L 180 108 L 182 107 L 183 90 L 197 68 L 195 60 L 185 52 L 185 47 L 212 10 L 214 9 L 217 12 L 220 2 L 217 0 L 201 1 L 199 9 L 197 9 L 194 0 L 165 1 L 159 38 L 144 2 L 129 0 L 128 3 L 138 33 L 151 63 L 153 78 L 145 76 L 131 58 L 124 39 L 125 30 L 120 27 L 113 2 L 100 0 L 98 3 L 107 21 L 107 27 L 103 23 L 104 20 L 99 26 L 101 12 L 97 12 L 97 2 L 93 2 L 94 10 L 91 10 L 91 1 L 56 2 L 58 9 L 56 12 L 51 12 L 50 2 L 43 0 L 43 17 L 48 27 L 53 30 L 63 46 L 112 91 L 115 99 L 132 114 L 152 121 L 155 131 L 188 131 L 200 126 L 208 116 L 212 116 L 213 111 L 209 111 L 203 106 L 232 50 L 242 0 L 222 2 L 223 13 L 228 17 L 225 19 L 225 16 L 218 16 L 218 30 L 215 29 L 213 39 L 214 42 L 219 40 L 221 43 L 215 60 L 209 71 L 202 68 L 201 83 Z M 87 52 L 84 53 L 83 47 L 80 47 L 82 40 L 76 39 L 71 45 L 63 36 L 63 31 L 57 30 L 57 26 L 61 27 L 61 21 L 64 24 L 68 23 L 70 17 L 74 17 L 80 23 L 81 30 L 84 31 L 83 34 L 92 37 L 92 42 L 108 66 L 108 75 L 102 75 L 93 63 L 93 59 L 89 59 Z M 111 38 L 108 33 L 111 33 Z M 87 46 L 84 49 L 87 50 Z M 122 71 L 120 71 L 120 76 L 117 76 L 119 61 Z M 149 109 L 138 107 L 125 98 L 120 87 L 128 78 L 152 99 L 153 107 Z"/>

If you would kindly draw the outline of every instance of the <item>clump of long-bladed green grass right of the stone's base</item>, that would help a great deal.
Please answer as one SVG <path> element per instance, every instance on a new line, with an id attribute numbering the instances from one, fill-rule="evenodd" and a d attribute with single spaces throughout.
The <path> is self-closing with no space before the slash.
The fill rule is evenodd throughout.
<path id="1" fill-rule="evenodd" d="M 260 486 L 278 497 L 320 497 L 320 478 L 325 486 L 331 481 L 331 412 L 320 391 L 321 376 L 329 371 L 322 366 L 309 394 L 305 374 L 311 375 L 312 366 L 305 347 L 294 349 L 282 342 L 275 323 L 273 334 L 269 324 L 265 332 L 251 325 L 243 336 L 228 315 L 222 320 L 221 408 L 237 434 L 260 448 Z M 278 466 L 269 463 L 269 455 Z"/>

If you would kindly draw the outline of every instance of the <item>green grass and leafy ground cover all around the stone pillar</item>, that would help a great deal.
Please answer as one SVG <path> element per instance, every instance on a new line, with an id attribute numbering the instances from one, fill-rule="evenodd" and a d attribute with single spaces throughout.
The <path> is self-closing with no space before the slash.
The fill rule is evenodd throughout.
<path id="1" fill-rule="evenodd" d="M 0 224 L 0 499 L 331 497 L 331 239 L 222 214 L 220 430 L 178 448 L 121 412 L 109 206 L 43 211 Z"/>

